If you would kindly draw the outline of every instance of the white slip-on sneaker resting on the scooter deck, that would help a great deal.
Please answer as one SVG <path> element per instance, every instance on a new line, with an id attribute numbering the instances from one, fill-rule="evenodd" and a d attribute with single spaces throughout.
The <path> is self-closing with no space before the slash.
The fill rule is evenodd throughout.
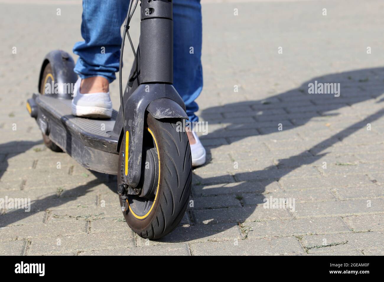
<path id="1" fill-rule="evenodd" d="M 80 93 L 81 78 L 73 89 L 72 114 L 78 117 L 109 119 L 112 116 L 112 102 L 109 92 Z"/>

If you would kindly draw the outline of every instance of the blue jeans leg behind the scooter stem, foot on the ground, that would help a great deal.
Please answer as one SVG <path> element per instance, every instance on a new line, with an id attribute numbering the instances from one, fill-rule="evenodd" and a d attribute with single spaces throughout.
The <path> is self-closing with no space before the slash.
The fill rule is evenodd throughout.
<path id="1" fill-rule="evenodd" d="M 195 99 L 203 88 L 200 0 L 174 0 L 173 21 L 173 85 L 184 100 L 189 121 L 195 122 L 199 120 Z"/>

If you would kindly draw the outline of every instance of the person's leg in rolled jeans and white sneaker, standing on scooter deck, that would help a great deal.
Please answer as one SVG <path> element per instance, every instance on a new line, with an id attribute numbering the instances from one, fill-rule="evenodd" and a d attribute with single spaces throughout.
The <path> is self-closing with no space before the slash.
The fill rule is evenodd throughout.
<path id="1" fill-rule="evenodd" d="M 119 70 L 120 28 L 127 14 L 126 0 L 83 0 L 81 36 L 73 53 L 79 55 L 74 71 L 79 75 L 72 114 L 108 118 L 112 114 L 109 83 Z"/>

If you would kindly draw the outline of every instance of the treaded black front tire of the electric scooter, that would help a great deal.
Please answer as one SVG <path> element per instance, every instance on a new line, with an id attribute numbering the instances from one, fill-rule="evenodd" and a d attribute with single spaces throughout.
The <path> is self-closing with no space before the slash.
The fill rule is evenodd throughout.
<path id="1" fill-rule="evenodd" d="M 192 157 L 187 134 L 178 132 L 176 122 L 180 119 L 157 120 L 147 115 L 147 126 L 156 139 L 160 155 L 159 196 L 145 218 L 137 218 L 130 208 L 123 211 L 124 218 L 131 229 L 139 236 L 159 239 L 171 232 L 181 221 L 189 203 L 192 184 Z M 145 135 L 144 135 L 145 137 Z M 148 135 L 147 137 L 148 138 Z M 123 181 L 123 138 L 118 171 L 118 184 Z M 131 196 L 143 201 L 145 198 Z M 120 206 L 122 200 L 120 199 Z"/>

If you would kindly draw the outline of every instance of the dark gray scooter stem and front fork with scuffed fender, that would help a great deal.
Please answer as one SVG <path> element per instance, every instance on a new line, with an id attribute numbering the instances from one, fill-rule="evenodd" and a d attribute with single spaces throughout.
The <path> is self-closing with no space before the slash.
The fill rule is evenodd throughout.
<path id="1" fill-rule="evenodd" d="M 124 156 L 127 156 L 127 160 L 124 160 L 124 182 L 127 187 L 124 188 L 132 194 L 136 194 L 134 191 L 141 176 L 145 112 L 151 112 L 154 117 L 188 118 L 184 102 L 172 86 L 172 13 L 170 0 L 141 2 L 137 65 L 134 63 L 132 66 L 130 80 L 133 80 L 127 83 L 123 96 L 124 120 L 120 109 L 113 130 L 128 144 L 123 148 L 126 150 Z M 156 106 L 148 107 L 152 102 Z M 175 110 L 169 114 L 169 109 Z M 167 111 L 167 114 L 162 115 L 162 111 Z"/>

